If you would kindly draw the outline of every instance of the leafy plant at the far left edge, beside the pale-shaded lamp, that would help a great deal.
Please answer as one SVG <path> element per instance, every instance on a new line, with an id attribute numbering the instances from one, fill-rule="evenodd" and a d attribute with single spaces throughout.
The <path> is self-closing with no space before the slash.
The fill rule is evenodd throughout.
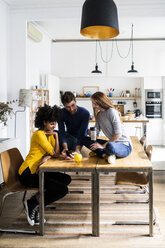
<path id="1" fill-rule="evenodd" d="M 0 102 L 0 123 L 7 125 L 8 117 L 12 114 L 13 108 L 8 103 Z"/>

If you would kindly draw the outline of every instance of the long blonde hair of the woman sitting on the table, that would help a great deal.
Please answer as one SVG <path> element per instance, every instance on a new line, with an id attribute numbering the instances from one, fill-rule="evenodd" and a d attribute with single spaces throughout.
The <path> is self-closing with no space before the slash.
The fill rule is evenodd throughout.
<path id="1" fill-rule="evenodd" d="M 102 109 L 109 109 L 109 108 L 114 108 L 113 104 L 109 100 L 109 98 L 101 91 L 95 92 L 92 96 L 91 99 L 95 101 L 95 103 Z M 93 110 L 95 117 L 98 114 L 98 111 L 95 109 Z"/>

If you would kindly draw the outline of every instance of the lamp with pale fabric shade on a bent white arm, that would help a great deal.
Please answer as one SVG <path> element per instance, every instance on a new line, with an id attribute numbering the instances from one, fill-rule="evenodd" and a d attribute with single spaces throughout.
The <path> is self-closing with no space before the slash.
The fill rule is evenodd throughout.
<path id="1" fill-rule="evenodd" d="M 20 89 L 19 91 L 19 107 L 24 107 L 23 110 L 17 110 L 15 112 L 15 128 L 14 128 L 14 137 L 16 138 L 16 125 L 17 125 L 17 113 L 25 112 L 26 107 L 31 107 L 32 102 L 32 90 L 29 89 Z"/>

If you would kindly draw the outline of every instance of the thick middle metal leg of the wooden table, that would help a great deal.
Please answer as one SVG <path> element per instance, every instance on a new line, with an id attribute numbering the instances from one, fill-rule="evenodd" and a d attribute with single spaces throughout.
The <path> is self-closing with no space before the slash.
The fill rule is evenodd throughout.
<path id="1" fill-rule="evenodd" d="M 99 173 L 92 173 L 92 235 L 100 235 L 100 192 L 99 192 Z"/>

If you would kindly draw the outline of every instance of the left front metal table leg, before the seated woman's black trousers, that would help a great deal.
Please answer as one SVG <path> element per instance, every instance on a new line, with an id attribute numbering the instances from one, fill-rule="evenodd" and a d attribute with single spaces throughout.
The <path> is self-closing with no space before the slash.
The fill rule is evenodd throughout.
<path id="1" fill-rule="evenodd" d="M 40 235 L 44 235 L 44 172 L 39 172 L 39 193 L 40 193 Z"/>

